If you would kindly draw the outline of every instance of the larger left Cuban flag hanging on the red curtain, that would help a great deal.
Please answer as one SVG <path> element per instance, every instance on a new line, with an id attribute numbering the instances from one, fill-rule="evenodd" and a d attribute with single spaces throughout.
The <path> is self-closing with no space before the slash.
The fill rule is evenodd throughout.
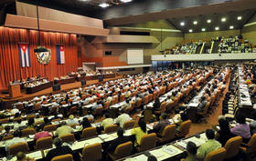
<path id="1" fill-rule="evenodd" d="M 29 67 L 30 66 L 29 45 L 28 44 L 19 44 L 18 52 L 19 52 L 21 67 Z"/>

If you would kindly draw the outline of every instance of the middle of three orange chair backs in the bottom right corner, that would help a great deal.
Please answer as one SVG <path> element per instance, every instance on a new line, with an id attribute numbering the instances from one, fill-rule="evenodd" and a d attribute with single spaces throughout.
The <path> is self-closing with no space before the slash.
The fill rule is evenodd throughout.
<path id="1" fill-rule="evenodd" d="M 225 144 L 225 149 L 227 150 L 227 154 L 225 158 L 231 158 L 233 156 L 237 156 L 239 154 L 239 147 L 242 142 L 241 136 L 235 136 L 230 138 Z"/>

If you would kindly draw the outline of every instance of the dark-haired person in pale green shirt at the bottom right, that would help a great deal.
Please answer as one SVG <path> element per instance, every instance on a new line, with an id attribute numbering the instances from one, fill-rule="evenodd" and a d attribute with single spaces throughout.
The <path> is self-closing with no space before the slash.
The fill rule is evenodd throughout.
<path id="1" fill-rule="evenodd" d="M 197 158 L 200 160 L 204 160 L 205 157 L 208 156 L 208 153 L 221 147 L 219 141 L 214 139 L 215 135 L 213 130 L 207 129 L 206 136 L 208 140 L 197 149 Z"/>

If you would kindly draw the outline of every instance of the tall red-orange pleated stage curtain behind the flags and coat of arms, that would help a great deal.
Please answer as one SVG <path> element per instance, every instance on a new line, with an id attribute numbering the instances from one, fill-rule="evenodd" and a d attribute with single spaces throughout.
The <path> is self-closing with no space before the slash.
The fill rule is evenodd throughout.
<path id="1" fill-rule="evenodd" d="M 41 45 L 51 50 L 48 65 L 37 62 L 34 49 L 38 46 L 37 30 L 0 27 L 0 90 L 6 89 L 10 81 L 41 75 L 53 80 L 67 75 L 78 68 L 77 36 L 62 33 L 40 32 Z M 30 47 L 30 67 L 21 67 L 18 44 L 28 43 Z M 64 45 L 65 64 L 57 64 L 56 45 Z"/>

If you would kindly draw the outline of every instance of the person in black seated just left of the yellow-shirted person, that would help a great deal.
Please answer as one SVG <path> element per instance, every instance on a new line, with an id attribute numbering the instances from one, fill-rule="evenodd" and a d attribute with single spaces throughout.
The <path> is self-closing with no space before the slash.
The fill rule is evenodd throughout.
<path id="1" fill-rule="evenodd" d="M 129 137 L 123 136 L 123 128 L 119 127 L 117 130 L 117 138 L 111 141 L 110 146 L 108 146 L 108 152 L 114 153 L 117 146 L 129 141 Z"/>

